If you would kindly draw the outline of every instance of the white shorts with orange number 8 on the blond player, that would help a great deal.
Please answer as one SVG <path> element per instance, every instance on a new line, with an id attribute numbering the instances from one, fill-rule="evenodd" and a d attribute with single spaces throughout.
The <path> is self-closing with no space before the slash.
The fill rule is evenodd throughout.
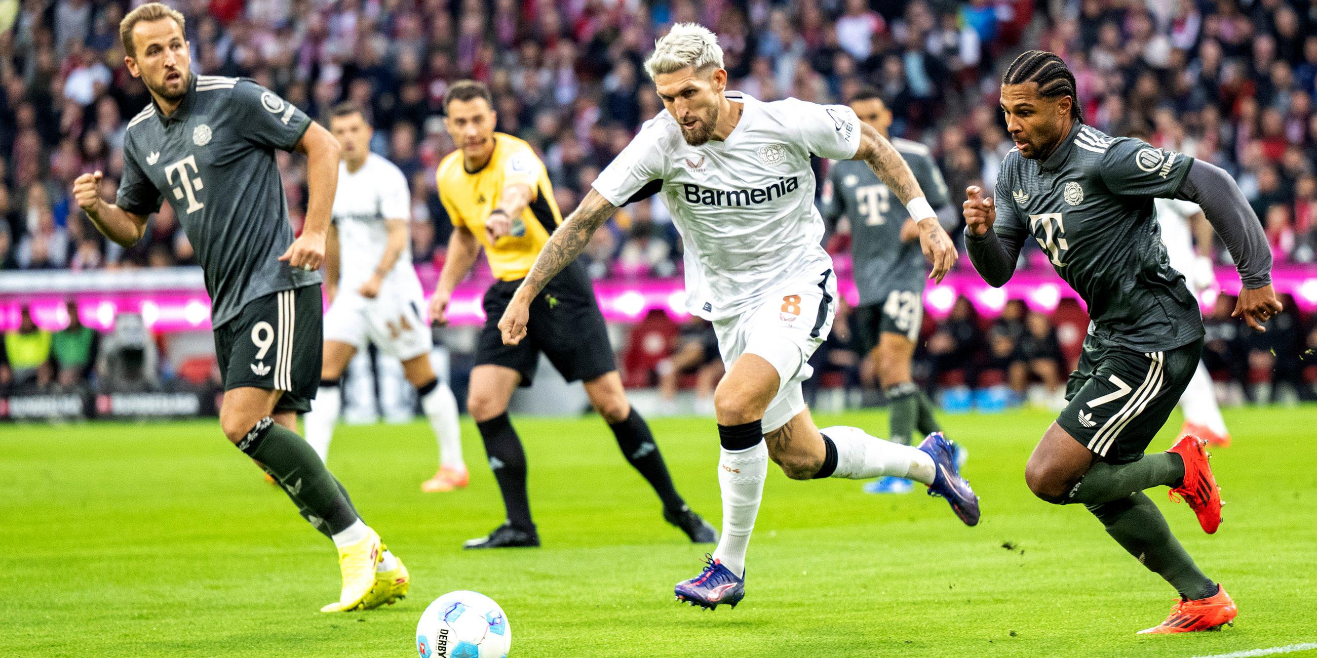
<path id="1" fill-rule="evenodd" d="M 810 357 L 827 340 L 835 313 L 836 276 L 828 268 L 780 287 L 739 316 L 714 320 L 728 371 L 741 354 L 763 357 L 777 370 L 777 395 L 764 412 L 765 434 L 805 411 L 801 382 L 814 374 Z"/>

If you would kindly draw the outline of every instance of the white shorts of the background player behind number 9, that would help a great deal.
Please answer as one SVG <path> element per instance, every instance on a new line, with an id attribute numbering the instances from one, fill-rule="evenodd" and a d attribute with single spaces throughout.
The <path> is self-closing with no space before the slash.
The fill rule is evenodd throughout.
<path id="1" fill-rule="evenodd" d="M 429 354 L 433 337 L 429 321 L 421 316 L 421 300 L 390 295 L 383 290 L 375 299 L 356 291 L 340 291 L 325 312 L 325 341 L 345 342 L 362 350 L 366 341 L 399 361 Z"/>

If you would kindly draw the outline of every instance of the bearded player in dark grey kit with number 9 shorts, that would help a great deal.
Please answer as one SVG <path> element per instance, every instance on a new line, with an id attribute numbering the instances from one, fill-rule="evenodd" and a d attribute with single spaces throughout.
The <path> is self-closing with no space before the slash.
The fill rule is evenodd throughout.
<path id="1" fill-rule="evenodd" d="M 101 174 L 74 182 L 92 224 L 130 246 L 169 200 L 196 249 L 212 300 L 224 380 L 220 426 L 271 475 L 302 516 L 338 549 L 342 591 L 321 612 L 357 611 L 407 594 L 403 563 L 362 522 L 346 490 L 295 432 L 320 376 L 320 274 L 338 145 L 319 124 L 259 84 L 192 75 L 183 14 L 159 3 L 120 24 L 124 62 L 151 95 L 128 122 L 119 197 Z M 274 150 L 304 153 L 309 193 L 292 238 Z"/>

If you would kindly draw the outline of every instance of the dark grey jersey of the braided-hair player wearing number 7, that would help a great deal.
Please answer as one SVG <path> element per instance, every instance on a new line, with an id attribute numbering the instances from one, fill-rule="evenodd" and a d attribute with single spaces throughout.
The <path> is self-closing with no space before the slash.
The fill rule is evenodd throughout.
<path id="1" fill-rule="evenodd" d="M 1173 197 L 1193 158 L 1077 124 L 1044 162 L 1011 150 L 997 178 L 1004 242 L 1033 236 L 1088 304 L 1089 333 L 1138 351 L 1202 337 L 1202 315 L 1171 267 L 1154 197 Z"/>

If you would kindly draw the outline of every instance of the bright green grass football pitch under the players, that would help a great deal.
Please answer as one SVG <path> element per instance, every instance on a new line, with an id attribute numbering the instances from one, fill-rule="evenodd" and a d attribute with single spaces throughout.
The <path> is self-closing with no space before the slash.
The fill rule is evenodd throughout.
<path id="1" fill-rule="evenodd" d="M 1193 657 L 1317 641 L 1317 408 L 1227 413 L 1216 536 L 1150 491 L 1241 608 L 1233 629 L 1171 637 L 1134 632 L 1173 591 L 1081 507 L 1025 487 L 1050 418 L 946 418 L 971 450 L 977 528 L 922 494 L 868 496 L 770 466 L 745 601 L 714 613 L 673 601 L 709 549 L 661 521 L 597 418 L 518 421 L 544 547 L 498 553 L 460 549 L 502 519 L 469 422 L 471 486 L 448 495 L 417 488 L 433 472 L 425 425 L 340 428 L 331 467 L 414 586 L 398 605 L 335 616 L 317 612 L 338 592 L 332 545 L 215 421 L 0 425 L 0 655 L 415 655 L 417 616 L 450 590 L 503 605 L 512 657 Z M 881 412 L 819 421 L 886 429 Z M 718 525 L 712 422 L 653 429 L 678 488 Z"/>

